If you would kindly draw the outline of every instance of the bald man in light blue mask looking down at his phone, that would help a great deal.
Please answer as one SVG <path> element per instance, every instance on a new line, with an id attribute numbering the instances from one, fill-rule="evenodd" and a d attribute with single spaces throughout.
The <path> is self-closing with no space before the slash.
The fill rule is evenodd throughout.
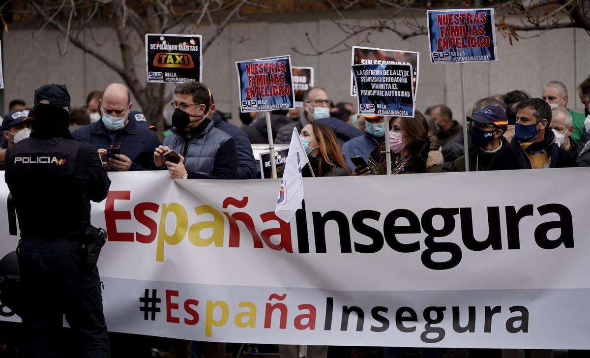
<path id="1" fill-rule="evenodd" d="M 160 140 L 148 126 L 137 123 L 132 106 L 127 87 L 119 83 L 109 84 L 100 100 L 101 118 L 72 133 L 75 140 L 99 149 L 107 170 L 154 169 L 153 151 L 160 145 Z M 109 148 L 114 148 L 110 155 L 107 154 Z"/>

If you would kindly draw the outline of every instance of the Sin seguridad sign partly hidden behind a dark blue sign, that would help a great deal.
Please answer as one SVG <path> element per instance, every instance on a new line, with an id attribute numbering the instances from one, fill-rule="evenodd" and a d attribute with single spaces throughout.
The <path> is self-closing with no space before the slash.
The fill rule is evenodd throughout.
<path id="1" fill-rule="evenodd" d="M 352 65 L 383 65 L 383 64 L 410 64 L 414 68 L 412 83 L 414 86 L 414 98 L 418 90 L 418 66 L 420 52 L 383 50 L 373 47 L 352 47 Z M 350 96 L 356 96 L 354 75 L 350 74 Z"/>

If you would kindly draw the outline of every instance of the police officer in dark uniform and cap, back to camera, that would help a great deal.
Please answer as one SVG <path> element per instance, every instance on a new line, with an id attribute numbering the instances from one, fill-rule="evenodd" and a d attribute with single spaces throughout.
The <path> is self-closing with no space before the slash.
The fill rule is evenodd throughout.
<path id="1" fill-rule="evenodd" d="M 110 180 L 97 150 L 76 142 L 68 130 L 70 94 L 64 85 L 35 91 L 28 139 L 6 151 L 5 180 L 17 210 L 18 264 L 24 293 L 24 357 L 56 357 L 76 347 L 76 357 L 108 357 L 100 277 L 83 242 L 90 228 L 90 201 L 103 201 Z M 75 338 L 60 344 L 62 317 Z"/>

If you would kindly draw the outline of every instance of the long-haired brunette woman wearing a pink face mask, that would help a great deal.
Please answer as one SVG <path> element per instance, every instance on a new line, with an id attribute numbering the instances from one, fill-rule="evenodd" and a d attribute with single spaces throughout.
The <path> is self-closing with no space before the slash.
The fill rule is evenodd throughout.
<path id="1" fill-rule="evenodd" d="M 389 135 L 392 174 L 442 172 L 440 145 L 428 136 L 428 122 L 420 111 L 414 117 L 391 117 L 385 135 Z M 387 172 L 385 144 L 373 150 L 368 164 L 375 174 Z"/>

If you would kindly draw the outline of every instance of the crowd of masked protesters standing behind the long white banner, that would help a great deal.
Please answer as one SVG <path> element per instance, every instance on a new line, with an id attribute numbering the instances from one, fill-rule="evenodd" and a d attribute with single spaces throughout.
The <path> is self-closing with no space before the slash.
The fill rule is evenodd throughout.
<path id="1" fill-rule="evenodd" d="M 215 108 L 214 96 L 198 82 L 178 84 L 171 103 L 172 127 L 160 141 L 155 127 L 133 110 L 129 89 L 110 84 L 93 91 L 86 106 L 70 111 L 75 140 L 96 147 L 110 171 L 168 170 L 176 179 L 255 179 L 260 174 L 251 144 L 290 143 L 293 129 L 310 165 L 304 177 L 388 174 L 385 136 L 391 149 L 389 174 L 457 172 L 504 169 L 543 169 L 590 166 L 590 77 L 576 88 L 585 113 L 568 110 L 568 89 L 558 81 L 546 84 L 539 97 L 523 90 L 478 100 L 466 119 L 454 119 L 445 104 L 428 107 L 415 116 L 357 116 L 352 103 L 334 104 L 328 92 L 312 87 L 304 93 L 300 110 L 274 111 L 271 128 L 264 113 L 244 113 L 242 126 L 234 126 Z M 2 121 L 0 165 L 5 150 L 26 139 L 34 118 L 27 104 L 14 100 Z M 468 126 L 467 150 L 463 125 Z M 174 152 L 175 155 L 172 155 Z M 365 162 L 360 165 L 359 160 Z M 353 163 L 354 162 L 354 163 Z M 393 179 L 392 179 L 393 180 Z M 133 344 L 136 342 L 137 345 Z M 130 344 L 131 343 L 131 344 Z M 116 334 L 112 356 L 139 356 L 149 341 Z M 172 340 L 175 356 L 188 357 L 189 341 Z M 117 352 L 117 350 L 119 350 Z M 281 357 L 298 357 L 299 347 L 281 346 Z M 316 347 L 309 358 L 350 356 L 353 347 Z M 124 352 L 124 353 L 122 353 Z M 222 343 L 201 344 L 206 357 L 225 357 Z M 440 349 L 366 348 L 371 357 L 441 357 Z M 471 357 L 525 357 L 523 350 L 470 350 Z M 587 353 L 570 352 L 570 357 Z M 527 357 L 552 357 L 550 350 L 531 350 Z"/>

